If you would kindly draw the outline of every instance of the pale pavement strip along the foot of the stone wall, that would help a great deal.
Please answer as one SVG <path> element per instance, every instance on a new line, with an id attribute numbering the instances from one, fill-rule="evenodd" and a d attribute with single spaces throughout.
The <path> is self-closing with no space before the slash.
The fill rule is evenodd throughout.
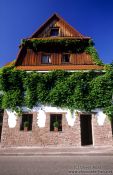
<path id="1" fill-rule="evenodd" d="M 113 147 L 1 147 L 0 156 L 113 156 Z"/>

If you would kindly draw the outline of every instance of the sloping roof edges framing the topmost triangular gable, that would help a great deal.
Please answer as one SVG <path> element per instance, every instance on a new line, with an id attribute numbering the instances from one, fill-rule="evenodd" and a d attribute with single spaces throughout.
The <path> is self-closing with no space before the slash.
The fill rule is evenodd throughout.
<path id="1" fill-rule="evenodd" d="M 80 32 L 78 32 L 76 29 L 74 29 L 71 25 L 69 25 L 62 17 L 60 17 L 58 14 L 54 13 L 44 24 L 42 24 L 40 26 L 40 28 L 38 30 L 36 30 L 32 36 L 30 38 L 37 38 L 39 36 L 39 34 L 53 21 L 53 20 L 57 20 L 60 21 L 61 23 L 63 23 L 63 25 L 66 26 L 67 29 L 69 29 L 73 35 L 73 37 L 77 37 L 77 38 L 89 38 L 89 37 L 85 37 L 84 35 L 82 35 Z"/>

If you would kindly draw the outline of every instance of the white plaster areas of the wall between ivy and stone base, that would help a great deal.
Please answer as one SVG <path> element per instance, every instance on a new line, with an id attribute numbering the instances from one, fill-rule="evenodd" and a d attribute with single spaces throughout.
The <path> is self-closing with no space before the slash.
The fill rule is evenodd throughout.
<path id="1" fill-rule="evenodd" d="M 61 108 L 57 108 L 57 107 L 51 107 L 51 106 L 38 106 L 38 107 L 34 107 L 32 110 L 27 108 L 27 107 L 23 107 L 22 108 L 23 112 L 37 112 L 37 125 L 40 128 L 45 127 L 45 123 L 46 123 L 46 113 L 66 113 L 66 120 L 69 126 L 74 126 L 77 115 L 76 115 L 76 110 L 74 110 L 73 112 L 71 112 L 69 109 L 61 109 Z M 16 122 L 17 122 L 17 114 L 16 112 L 13 112 L 10 109 L 7 109 L 7 114 L 8 114 L 8 125 L 9 128 L 14 128 L 16 126 Z M 80 111 L 79 111 L 80 112 Z M 96 117 L 97 117 L 97 123 L 99 126 L 104 125 L 105 119 L 106 119 L 106 115 L 103 113 L 102 110 L 100 109 L 96 109 L 94 110 L 94 112 L 96 112 Z"/>

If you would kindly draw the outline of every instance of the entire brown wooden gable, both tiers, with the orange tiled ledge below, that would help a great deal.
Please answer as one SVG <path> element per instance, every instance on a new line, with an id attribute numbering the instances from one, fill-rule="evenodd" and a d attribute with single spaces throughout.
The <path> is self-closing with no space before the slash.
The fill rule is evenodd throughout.
<path id="1" fill-rule="evenodd" d="M 51 35 L 51 31 L 58 30 L 58 36 Z M 76 46 L 72 51 L 72 45 L 70 50 L 66 42 L 78 41 L 88 43 L 89 37 L 85 37 L 72 26 L 70 26 L 64 19 L 59 15 L 54 14 L 50 17 L 30 38 L 27 39 L 28 42 L 35 41 L 41 42 L 42 45 L 38 45 L 38 51 L 34 51 L 33 48 L 26 47 L 22 45 L 17 56 L 15 66 L 18 70 L 37 70 L 37 71 L 50 71 L 50 70 L 100 70 L 103 69 L 102 66 L 98 66 L 93 61 L 91 55 L 83 52 L 77 52 Z M 59 50 L 61 43 L 63 43 L 63 49 Z M 50 44 L 51 42 L 51 44 Z M 65 42 L 65 46 L 64 46 Z M 46 43 L 46 44 L 45 44 Z M 57 45 L 56 45 L 57 43 Z M 49 47 L 48 47 L 49 46 Z M 82 47 L 82 45 L 80 45 Z M 56 49 L 57 48 L 57 49 Z M 44 50 L 46 49 L 46 51 Z M 57 51 L 56 51 L 57 50 Z M 63 54 L 70 54 L 69 62 L 62 62 Z M 50 55 L 51 62 L 43 64 L 41 59 L 44 54 Z"/>

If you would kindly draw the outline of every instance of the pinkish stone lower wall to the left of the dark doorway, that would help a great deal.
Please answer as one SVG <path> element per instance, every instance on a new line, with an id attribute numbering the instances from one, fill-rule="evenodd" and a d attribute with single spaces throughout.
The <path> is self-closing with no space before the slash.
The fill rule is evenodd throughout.
<path id="1" fill-rule="evenodd" d="M 62 115 L 62 131 L 50 131 L 50 114 L 47 114 L 46 125 L 39 128 L 37 113 L 33 113 L 32 131 L 20 131 L 20 118 L 15 128 L 9 128 L 8 115 L 4 113 L 2 146 L 80 146 L 80 121 L 76 119 L 75 125 L 70 127 L 65 114 Z"/>

